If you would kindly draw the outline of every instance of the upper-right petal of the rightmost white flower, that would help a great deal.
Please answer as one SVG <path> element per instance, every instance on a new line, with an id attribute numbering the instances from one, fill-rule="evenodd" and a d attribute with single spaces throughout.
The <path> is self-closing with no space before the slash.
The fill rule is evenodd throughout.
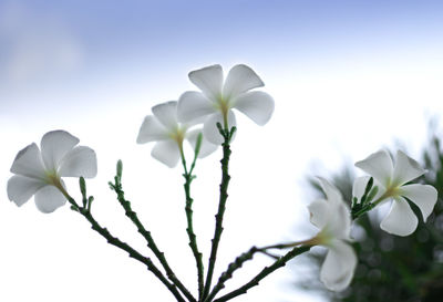
<path id="1" fill-rule="evenodd" d="M 403 152 L 396 152 L 396 160 L 394 166 L 393 183 L 394 185 L 403 185 L 412 179 L 425 174 L 419 163 L 405 155 Z"/>

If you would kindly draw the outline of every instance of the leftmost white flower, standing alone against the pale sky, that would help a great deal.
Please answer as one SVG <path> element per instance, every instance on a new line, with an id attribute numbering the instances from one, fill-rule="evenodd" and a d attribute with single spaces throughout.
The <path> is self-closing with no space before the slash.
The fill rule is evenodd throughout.
<path id="1" fill-rule="evenodd" d="M 8 197 L 22 206 L 35 195 L 37 208 L 52 212 L 66 202 L 61 192 L 64 185 L 61 177 L 92 178 L 96 175 L 95 152 L 76 146 L 79 138 L 64 131 L 43 135 L 40 147 L 32 143 L 20 150 L 11 167 L 16 174 L 8 181 Z"/>

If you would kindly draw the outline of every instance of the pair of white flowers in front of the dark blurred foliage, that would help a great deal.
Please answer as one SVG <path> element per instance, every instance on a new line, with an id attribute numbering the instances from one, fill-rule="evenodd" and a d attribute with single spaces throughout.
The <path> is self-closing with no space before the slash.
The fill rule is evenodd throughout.
<path id="1" fill-rule="evenodd" d="M 416 229 L 418 218 L 408 200 L 419 207 L 423 221 L 431 215 L 437 199 L 437 191 L 429 185 L 410 184 L 425 170 L 403 152 L 396 153 L 395 163 L 388 152 L 379 150 L 356 163 L 356 166 L 370 176 L 358 177 L 354 180 L 354 200 L 367 202 L 368 210 L 392 200 L 391 209 L 380 225 L 384 231 L 396 236 L 408 236 Z M 351 240 L 351 216 L 336 187 L 323 178 L 320 178 L 320 186 L 327 198 L 313 201 L 308 207 L 311 222 L 320 228 L 320 232 L 306 242 L 329 249 L 321 268 L 320 280 L 328 289 L 340 291 L 350 284 L 357 265 L 357 257 L 348 244 Z M 357 205 L 361 209 L 361 205 Z"/>

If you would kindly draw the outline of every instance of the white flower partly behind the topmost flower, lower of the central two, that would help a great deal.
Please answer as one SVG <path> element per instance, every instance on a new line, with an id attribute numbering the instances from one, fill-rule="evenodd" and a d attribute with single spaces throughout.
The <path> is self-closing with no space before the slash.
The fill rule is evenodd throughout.
<path id="1" fill-rule="evenodd" d="M 154 115 L 147 115 L 140 127 L 137 144 L 157 142 L 151 155 L 173 168 L 183 153 L 183 140 L 187 139 L 195 148 L 202 129 L 188 131 L 195 123 L 177 122 L 177 102 L 175 101 L 158 104 L 152 108 L 152 112 Z M 217 145 L 203 137 L 198 157 L 208 156 L 216 149 Z"/>

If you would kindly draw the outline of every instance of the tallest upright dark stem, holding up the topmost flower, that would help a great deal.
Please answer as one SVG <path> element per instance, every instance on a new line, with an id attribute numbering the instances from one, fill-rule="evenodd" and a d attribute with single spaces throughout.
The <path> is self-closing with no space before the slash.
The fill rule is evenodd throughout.
<path id="1" fill-rule="evenodd" d="M 220 160 L 222 163 L 222 184 L 220 184 L 220 197 L 219 197 L 219 202 L 218 202 L 218 212 L 215 216 L 215 232 L 214 232 L 214 238 L 212 241 L 212 248 L 210 248 L 210 257 L 209 257 L 209 263 L 208 263 L 208 271 L 206 274 L 206 282 L 205 282 L 205 288 L 204 288 L 204 294 L 203 294 L 203 300 L 206 300 L 207 295 L 209 294 L 210 290 L 210 283 L 213 280 L 213 274 L 214 274 L 214 268 L 215 268 L 215 262 L 217 259 L 217 249 L 218 249 L 218 243 L 222 238 L 222 232 L 223 232 L 223 216 L 225 214 L 226 209 L 226 200 L 228 199 L 228 185 L 230 180 L 229 176 L 229 157 L 230 157 L 230 139 L 236 131 L 235 127 L 233 127 L 230 131 L 226 127 L 222 128 L 220 124 L 217 124 L 217 127 L 220 132 L 220 134 L 224 137 L 224 143 L 222 144 L 223 146 L 223 158 Z"/>

